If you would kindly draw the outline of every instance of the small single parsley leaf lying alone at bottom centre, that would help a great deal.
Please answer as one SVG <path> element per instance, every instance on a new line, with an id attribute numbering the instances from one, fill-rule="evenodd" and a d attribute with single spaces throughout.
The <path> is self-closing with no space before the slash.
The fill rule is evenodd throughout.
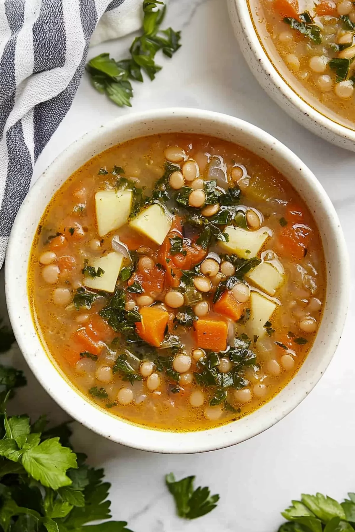
<path id="1" fill-rule="evenodd" d="M 219 501 L 219 495 L 210 496 L 208 487 L 194 490 L 194 480 L 194 476 L 176 480 L 173 473 L 165 477 L 169 492 L 175 499 L 177 514 L 185 519 L 204 516 L 216 508 Z"/>

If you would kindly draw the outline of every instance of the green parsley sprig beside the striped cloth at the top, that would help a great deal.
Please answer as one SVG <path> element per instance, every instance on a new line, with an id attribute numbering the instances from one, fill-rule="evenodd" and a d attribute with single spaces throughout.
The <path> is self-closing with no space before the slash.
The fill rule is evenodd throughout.
<path id="1" fill-rule="evenodd" d="M 162 9 L 157 9 L 158 4 L 163 5 Z M 143 35 L 134 39 L 128 59 L 115 61 L 110 54 L 103 53 L 86 65 L 93 87 L 120 107 L 131 107 L 132 80 L 143 81 L 142 71 L 153 80 L 161 70 L 161 66 L 155 63 L 156 52 L 161 50 L 167 57 L 172 57 L 180 48 L 180 31 L 160 30 L 166 13 L 163 2 L 144 0 L 143 13 Z"/>

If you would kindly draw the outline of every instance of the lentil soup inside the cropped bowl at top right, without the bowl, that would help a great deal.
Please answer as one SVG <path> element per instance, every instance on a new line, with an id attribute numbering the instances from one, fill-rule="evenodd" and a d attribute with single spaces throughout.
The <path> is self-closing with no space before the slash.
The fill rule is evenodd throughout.
<path id="1" fill-rule="evenodd" d="M 354 127 L 355 6 L 350 0 L 260 0 L 259 19 L 308 92 Z M 297 89 L 297 84 L 293 84 Z M 311 103 L 312 104 L 312 103 Z M 322 109 L 323 112 L 323 109 Z"/>

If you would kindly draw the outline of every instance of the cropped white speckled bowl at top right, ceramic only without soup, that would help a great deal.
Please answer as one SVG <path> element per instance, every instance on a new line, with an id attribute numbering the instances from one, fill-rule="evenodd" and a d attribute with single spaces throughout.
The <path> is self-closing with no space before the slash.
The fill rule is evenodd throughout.
<path id="1" fill-rule="evenodd" d="M 247 64 L 260 85 L 286 113 L 319 137 L 355 151 L 355 124 L 321 104 L 288 70 L 265 22 L 259 0 L 228 0 L 230 20 Z"/>

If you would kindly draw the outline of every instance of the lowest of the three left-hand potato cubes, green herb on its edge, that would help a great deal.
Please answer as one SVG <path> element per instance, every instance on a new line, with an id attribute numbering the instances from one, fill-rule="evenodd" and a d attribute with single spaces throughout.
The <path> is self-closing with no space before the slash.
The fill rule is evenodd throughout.
<path id="1" fill-rule="evenodd" d="M 93 266 L 97 271 L 101 268 L 104 273 L 101 277 L 85 277 L 84 286 L 94 288 L 94 290 L 104 290 L 105 292 L 114 292 L 118 274 L 122 267 L 123 255 L 113 251 L 108 255 L 104 255 L 99 259 L 90 262 L 89 266 Z"/>

